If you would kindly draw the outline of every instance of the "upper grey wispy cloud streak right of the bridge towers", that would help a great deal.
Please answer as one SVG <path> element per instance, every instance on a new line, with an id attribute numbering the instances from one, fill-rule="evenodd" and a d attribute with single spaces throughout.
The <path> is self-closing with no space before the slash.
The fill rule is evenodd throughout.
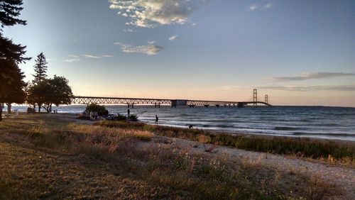
<path id="1" fill-rule="evenodd" d="M 271 77 L 269 80 L 272 82 L 292 82 L 292 81 L 302 81 L 307 79 L 326 79 L 332 77 L 349 77 L 355 76 L 354 73 L 343 73 L 343 72 L 316 72 L 316 73 L 302 73 L 295 77 Z"/>

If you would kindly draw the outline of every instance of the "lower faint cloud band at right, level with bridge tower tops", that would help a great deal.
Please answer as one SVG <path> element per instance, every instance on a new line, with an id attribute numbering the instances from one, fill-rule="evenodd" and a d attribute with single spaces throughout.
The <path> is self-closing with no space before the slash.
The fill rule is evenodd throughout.
<path id="1" fill-rule="evenodd" d="M 259 88 L 283 91 L 355 91 L 355 85 L 267 86 Z"/>

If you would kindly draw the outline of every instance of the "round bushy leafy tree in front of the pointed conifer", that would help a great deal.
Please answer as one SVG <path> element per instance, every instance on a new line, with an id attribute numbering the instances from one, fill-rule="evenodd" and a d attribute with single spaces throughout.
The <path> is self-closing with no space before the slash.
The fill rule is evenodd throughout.
<path id="1" fill-rule="evenodd" d="M 72 89 L 65 77 L 54 76 L 53 79 L 44 79 L 28 89 L 28 102 L 41 105 L 48 113 L 52 111 L 53 104 L 55 106 L 71 104 L 71 97 Z"/>

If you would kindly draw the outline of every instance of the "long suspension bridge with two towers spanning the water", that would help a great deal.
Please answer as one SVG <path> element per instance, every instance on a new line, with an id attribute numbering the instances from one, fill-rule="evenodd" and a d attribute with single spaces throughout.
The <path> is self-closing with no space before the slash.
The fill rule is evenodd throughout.
<path id="1" fill-rule="evenodd" d="M 134 105 L 152 105 L 160 108 L 160 105 L 176 106 L 271 106 L 268 103 L 268 94 L 265 101 L 258 101 L 258 91 L 253 89 L 253 100 L 251 101 L 206 101 L 206 100 L 187 100 L 187 99 L 145 99 L 145 98 L 120 98 L 120 97 L 95 97 L 95 96 L 72 96 L 72 104 L 125 104 L 129 108 Z"/>

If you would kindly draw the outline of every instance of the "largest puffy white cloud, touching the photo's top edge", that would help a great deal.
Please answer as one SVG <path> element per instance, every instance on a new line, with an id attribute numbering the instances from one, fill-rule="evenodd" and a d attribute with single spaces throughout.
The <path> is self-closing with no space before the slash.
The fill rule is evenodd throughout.
<path id="1" fill-rule="evenodd" d="M 187 23 L 190 14 L 207 0 L 110 0 L 110 9 L 130 19 L 126 24 L 154 28 Z"/>

